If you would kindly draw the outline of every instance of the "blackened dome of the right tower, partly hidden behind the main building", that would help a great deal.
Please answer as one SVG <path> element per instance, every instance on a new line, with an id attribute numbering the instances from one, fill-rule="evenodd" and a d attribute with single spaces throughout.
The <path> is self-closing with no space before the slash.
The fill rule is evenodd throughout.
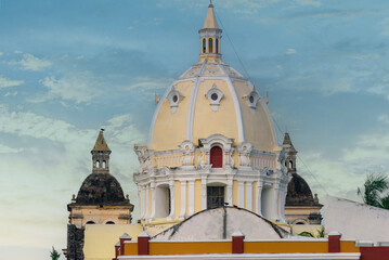
<path id="1" fill-rule="evenodd" d="M 311 188 L 302 177 L 291 173 L 288 184 L 285 206 L 314 206 L 320 205 L 312 196 Z"/>

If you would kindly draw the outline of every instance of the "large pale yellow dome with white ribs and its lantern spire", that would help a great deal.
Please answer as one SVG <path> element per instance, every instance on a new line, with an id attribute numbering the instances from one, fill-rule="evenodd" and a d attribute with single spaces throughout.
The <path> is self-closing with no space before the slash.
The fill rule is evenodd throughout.
<path id="1" fill-rule="evenodd" d="M 234 139 L 235 144 L 248 142 L 254 150 L 273 152 L 277 146 L 267 98 L 221 60 L 221 31 L 210 5 L 199 30 L 199 62 L 180 75 L 159 100 L 150 148 L 177 150 L 185 140 L 197 145 L 199 139 L 216 133 Z"/>

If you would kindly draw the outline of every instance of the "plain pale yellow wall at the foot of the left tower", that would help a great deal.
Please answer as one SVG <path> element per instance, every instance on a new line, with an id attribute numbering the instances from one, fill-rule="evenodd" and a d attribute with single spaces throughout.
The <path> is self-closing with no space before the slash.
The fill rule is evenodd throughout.
<path id="1" fill-rule="evenodd" d="M 85 232 L 85 260 L 108 260 L 115 257 L 115 244 L 127 233 L 133 240 L 142 232 L 140 224 L 93 224 Z M 137 245 L 137 244 L 135 244 Z"/>

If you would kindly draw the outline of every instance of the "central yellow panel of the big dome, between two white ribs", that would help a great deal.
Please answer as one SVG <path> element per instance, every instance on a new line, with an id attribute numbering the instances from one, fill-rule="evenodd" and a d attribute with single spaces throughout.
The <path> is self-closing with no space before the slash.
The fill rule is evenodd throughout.
<path id="1" fill-rule="evenodd" d="M 224 93 L 217 112 L 212 110 L 208 99 L 205 96 L 213 83 Z M 193 140 L 208 138 L 213 133 L 238 140 L 235 105 L 229 87 L 223 80 L 204 80 L 199 83 L 196 98 Z"/>

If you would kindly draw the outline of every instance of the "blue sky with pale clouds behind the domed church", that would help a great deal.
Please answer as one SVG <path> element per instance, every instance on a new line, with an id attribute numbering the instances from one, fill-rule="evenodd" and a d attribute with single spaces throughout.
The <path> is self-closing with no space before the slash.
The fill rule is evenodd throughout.
<path id="1" fill-rule="evenodd" d="M 198 61 L 208 3 L 0 0 L 0 259 L 66 247 L 66 205 L 100 128 L 137 219 L 133 144 L 146 142 L 155 94 Z M 288 131 L 321 202 L 358 200 L 366 173 L 389 173 L 388 1 L 213 4 L 223 61 L 269 94 L 280 142 Z"/>

